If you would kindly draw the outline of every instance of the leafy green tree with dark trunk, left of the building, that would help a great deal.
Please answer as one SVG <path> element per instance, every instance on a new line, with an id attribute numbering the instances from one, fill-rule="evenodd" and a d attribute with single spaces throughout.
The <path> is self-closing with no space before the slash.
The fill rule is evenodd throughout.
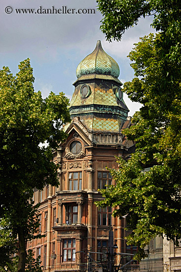
<path id="1" fill-rule="evenodd" d="M 35 92 L 30 59 L 20 63 L 13 76 L 0 70 L 0 218 L 9 222 L 13 237 L 18 235 L 18 272 L 25 271 L 26 240 L 36 238 L 37 206 L 34 188 L 45 182 L 58 185 L 52 148 L 66 138 L 62 124 L 70 121 L 69 99 L 53 92 L 42 99 Z M 48 143 L 41 147 L 40 143 Z"/>

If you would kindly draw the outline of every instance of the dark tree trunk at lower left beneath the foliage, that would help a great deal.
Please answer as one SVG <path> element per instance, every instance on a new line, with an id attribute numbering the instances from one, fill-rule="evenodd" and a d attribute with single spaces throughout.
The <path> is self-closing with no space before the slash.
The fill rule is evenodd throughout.
<path id="1" fill-rule="evenodd" d="M 26 264 L 26 245 L 25 245 L 25 236 L 23 228 L 18 228 L 18 240 L 19 240 L 19 264 L 18 264 L 18 272 L 25 272 L 25 264 Z"/>

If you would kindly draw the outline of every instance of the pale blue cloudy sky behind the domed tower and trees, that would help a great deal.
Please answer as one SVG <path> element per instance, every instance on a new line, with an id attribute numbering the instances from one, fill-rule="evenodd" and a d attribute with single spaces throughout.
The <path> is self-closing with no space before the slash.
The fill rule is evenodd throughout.
<path id="1" fill-rule="evenodd" d="M 100 31 L 103 17 L 96 6 L 96 0 L 0 0 L 0 69 L 8 66 L 16 74 L 20 61 L 30 58 L 35 91 L 41 91 L 44 98 L 50 91 L 63 91 L 71 99 L 79 62 L 101 40 L 103 49 L 119 65 L 119 80 L 131 81 L 134 71 L 127 55 L 140 37 L 153 32 L 152 18 L 141 18 L 137 26 L 125 32 L 121 42 L 109 43 Z M 69 14 L 63 13 L 65 8 Z M 18 9 L 34 9 L 34 13 L 20 14 Z M 48 14 L 47 9 L 54 14 Z M 131 102 L 126 94 L 123 98 L 129 116 L 133 116 L 141 105 Z"/>

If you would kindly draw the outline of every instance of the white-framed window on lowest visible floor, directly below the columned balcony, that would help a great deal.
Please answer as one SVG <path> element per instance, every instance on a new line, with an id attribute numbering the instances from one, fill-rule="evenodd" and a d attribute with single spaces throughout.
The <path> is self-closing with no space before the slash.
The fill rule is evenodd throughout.
<path id="1" fill-rule="evenodd" d="M 70 241 L 71 241 L 71 246 L 70 246 Z M 65 243 L 66 242 L 66 243 Z M 75 262 L 75 248 L 76 248 L 76 244 L 75 244 L 75 238 L 67 238 L 67 239 L 63 239 L 63 243 L 62 243 L 62 262 Z M 65 247 L 66 244 L 66 247 Z M 66 254 L 65 254 L 66 251 Z M 71 258 L 69 258 L 69 252 L 71 252 Z M 65 260 L 65 256 L 66 256 L 66 260 Z"/>

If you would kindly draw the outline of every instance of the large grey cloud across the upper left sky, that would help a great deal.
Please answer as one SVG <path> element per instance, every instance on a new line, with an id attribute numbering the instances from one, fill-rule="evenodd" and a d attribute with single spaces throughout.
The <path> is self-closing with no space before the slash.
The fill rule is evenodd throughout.
<path id="1" fill-rule="evenodd" d="M 71 50 L 82 46 L 82 51 L 89 49 L 92 38 L 103 34 L 99 30 L 102 15 L 95 14 L 6 14 L 6 0 L 1 0 L 0 10 L 0 51 L 4 54 L 22 50 L 41 61 L 55 61 L 62 50 Z M 94 8 L 95 0 L 8 0 L 8 6 L 15 8 Z M 5 23 L 4 23 L 5 22 Z M 85 42 L 86 41 L 86 42 Z M 80 48 L 80 47 L 79 47 Z"/>

